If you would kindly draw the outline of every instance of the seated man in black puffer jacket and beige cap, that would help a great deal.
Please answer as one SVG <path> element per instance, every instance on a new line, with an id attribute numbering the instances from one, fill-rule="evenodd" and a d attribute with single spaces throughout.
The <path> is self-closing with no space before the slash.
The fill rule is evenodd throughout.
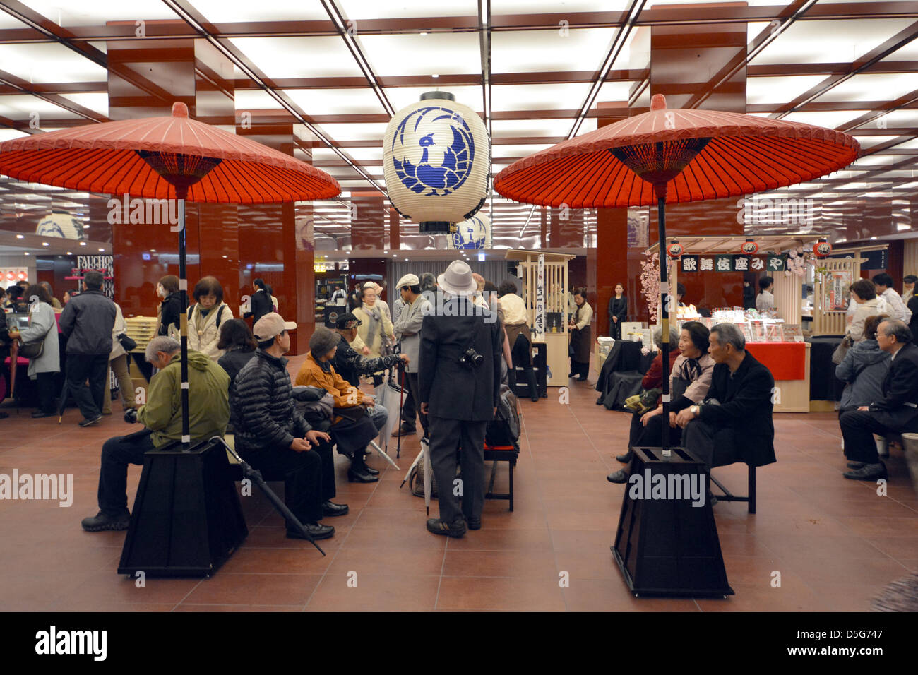
<path id="1" fill-rule="evenodd" d="M 313 430 L 294 406 L 283 356 L 290 350 L 288 331 L 295 328 L 296 323 L 274 312 L 255 323 L 252 332 L 259 348 L 229 387 L 229 420 L 239 454 L 266 480 L 283 479 L 287 507 L 313 537 L 327 539 L 335 528 L 319 520 L 343 515 L 348 507 L 322 502 L 322 458 L 314 448 L 331 439 Z M 303 538 L 290 523 L 286 535 Z"/>

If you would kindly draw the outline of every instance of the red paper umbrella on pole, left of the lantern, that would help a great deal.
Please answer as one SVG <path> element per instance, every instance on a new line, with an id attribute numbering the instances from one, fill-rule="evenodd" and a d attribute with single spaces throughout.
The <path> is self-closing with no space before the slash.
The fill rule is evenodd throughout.
<path id="1" fill-rule="evenodd" d="M 283 152 L 188 118 L 126 119 L 0 143 L 0 174 L 109 195 L 178 199 L 179 290 L 187 305 L 185 199 L 273 204 L 326 199 L 341 192 L 329 174 Z M 182 442 L 188 432 L 188 326 L 182 332 Z"/>

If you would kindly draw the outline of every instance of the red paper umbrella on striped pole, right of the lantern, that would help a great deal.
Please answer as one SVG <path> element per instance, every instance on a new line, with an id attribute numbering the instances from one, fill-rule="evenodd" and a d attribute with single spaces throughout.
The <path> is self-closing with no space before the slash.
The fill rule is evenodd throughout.
<path id="1" fill-rule="evenodd" d="M 562 141 L 510 164 L 494 181 L 499 194 L 548 207 L 614 208 L 656 203 L 660 251 L 666 202 L 735 197 L 829 174 L 853 162 L 860 146 L 840 131 L 782 119 L 711 110 L 650 112 Z M 669 312 L 666 264 L 660 265 L 663 419 L 669 419 Z M 669 454 L 669 425 L 663 449 Z"/>

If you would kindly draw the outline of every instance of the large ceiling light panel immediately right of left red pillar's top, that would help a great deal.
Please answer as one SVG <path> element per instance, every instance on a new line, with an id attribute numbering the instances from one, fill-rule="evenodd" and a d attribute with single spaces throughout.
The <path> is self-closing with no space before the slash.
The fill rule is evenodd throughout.
<path id="1" fill-rule="evenodd" d="M 270 78 L 363 77 L 344 40 L 337 36 L 230 41 Z"/>

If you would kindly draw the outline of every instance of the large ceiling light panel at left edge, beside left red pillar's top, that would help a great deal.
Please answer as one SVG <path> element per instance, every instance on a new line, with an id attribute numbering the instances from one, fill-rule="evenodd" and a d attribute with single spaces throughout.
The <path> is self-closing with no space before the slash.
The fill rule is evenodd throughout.
<path id="1" fill-rule="evenodd" d="M 106 82 L 108 72 L 57 42 L 0 44 L 7 73 L 31 83 Z"/>

